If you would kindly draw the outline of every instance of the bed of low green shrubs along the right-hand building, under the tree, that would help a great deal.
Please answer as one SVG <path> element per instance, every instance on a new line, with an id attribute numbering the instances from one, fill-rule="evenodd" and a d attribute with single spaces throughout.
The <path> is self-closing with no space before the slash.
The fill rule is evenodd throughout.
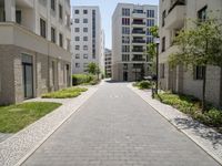
<path id="1" fill-rule="evenodd" d="M 189 95 L 159 93 L 158 96 L 155 95 L 155 98 L 164 104 L 172 105 L 179 111 L 189 114 L 192 118 L 222 133 L 222 110 L 209 104 L 206 111 L 202 113 L 201 102 Z"/>

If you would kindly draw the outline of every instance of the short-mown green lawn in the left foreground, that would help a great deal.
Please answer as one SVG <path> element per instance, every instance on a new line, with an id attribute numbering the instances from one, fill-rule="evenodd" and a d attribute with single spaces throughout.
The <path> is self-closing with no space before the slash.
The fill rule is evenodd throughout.
<path id="1" fill-rule="evenodd" d="M 60 105 L 59 103 L 30 102 L 0 106 L 0 133 L 17 133 Z"/>

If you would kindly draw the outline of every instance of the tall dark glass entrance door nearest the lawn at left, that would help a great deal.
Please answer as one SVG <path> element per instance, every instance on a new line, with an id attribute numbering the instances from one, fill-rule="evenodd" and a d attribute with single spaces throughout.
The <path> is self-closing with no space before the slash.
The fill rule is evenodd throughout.
<path id="1" fill-rule="evenodd" d="M 22 72 L 24 98 L 31 98 L 33 97 L 33 66 L 32 58 L 29 55 L 22 56 Z"/>

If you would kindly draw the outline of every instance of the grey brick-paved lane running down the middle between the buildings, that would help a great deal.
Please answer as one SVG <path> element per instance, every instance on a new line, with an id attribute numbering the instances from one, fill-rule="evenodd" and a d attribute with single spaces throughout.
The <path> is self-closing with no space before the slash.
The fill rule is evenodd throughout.
<path id="1" fill-rule="evenodd" d="M 23 165 L 219 166 L 124 83 L 105 83 Z"/>

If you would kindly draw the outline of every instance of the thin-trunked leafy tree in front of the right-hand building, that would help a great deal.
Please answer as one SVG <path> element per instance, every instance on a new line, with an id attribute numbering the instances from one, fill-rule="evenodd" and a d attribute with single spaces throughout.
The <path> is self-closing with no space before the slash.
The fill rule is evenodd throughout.
<path id="1" fill-rule="evenodd" d="M 205 111 L 208 65 L 222 66 L 222 27 L 218 19 L 193 21 L 192 29 L 183 29 L 175 37 L 178 52 L 169 58 L 172 68 L 176 65 L 202 66 L 202 111 Z"/>

